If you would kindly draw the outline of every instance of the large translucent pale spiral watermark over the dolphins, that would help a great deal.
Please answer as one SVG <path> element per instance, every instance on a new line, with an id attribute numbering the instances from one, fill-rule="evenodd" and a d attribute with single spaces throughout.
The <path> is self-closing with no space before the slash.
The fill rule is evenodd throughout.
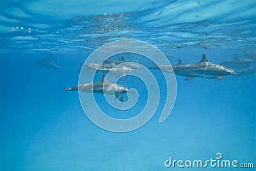
<path id="1" fill-rule="evenodd" d="M 111 57 L 124 53 L 131 53 L 137 54 L 137 56 L 143 56 L 149 61 L 152 61 L 152 63 L 156 67 L 159 65 L 169 65 L 170 67 L 172 67 L 166 56 L 164 56 L 163 52 L 161 52 L 158 48 L 154 47 L 154 45 L 151 45 L 150 43 L 140 40 L 111 41 L 110 43 L 102 45 L 102 47 L 99 47 L 97 50 L 93 51 L 92 54 L 90 54 L 90 56 L 86 59 L 79 75 L 79 84 L 85 84 L 86 82 L 95 82 L 95 75 L 99 73 L 99 70 L 95 70 L 90 74 L 88 74 L 88 72 L 84 72 L 84 70 L 86 70 L 86 64 L 92 64 L 97 61 L 97 65 L 99 65 L 99 67 L 106 66 L 106 64 L 104 64 L 104 61 L 106 62 L 106 60 L 111 59 Z M 134 65 L 139 65 L 140 69 L 130 70 Z M 127 68 L 127 66 L 131 67 Z M 128 64 L 116 64 L 111 69 L 111 71 L 107 72 L 108 74 L 106 75 L 108 81 L 113 84 L 118 82 L 118 80 L 120 79 L 120 77 L 116 77 L 115 75 L 115 73 L 118 72 L 125 75 L 125 77 L 132 75 L 133 77 L 139 78 L 143 81 L 143 83 L 147 87 L 147 94 L 140 94 L 140 96 L 147 96 L 147 103 L 144 107 L 142 107 L 143 110 L 141 110 L 138 115 L 128 119 L 113 118 L 108 114 L 108 111 L 104 110 L 104 105 L 106 104 L 97 103 L 97 100 L 95 100 L 95 96 L 93 96 L 93 93 L 84 93 L 82 91 L 79 91 L 79 100 L 87 117 L 100 128 L 114 132 L 135 130 L 143 126 L 143 124 L 147 123 L 159 107 L 161 91 L 163 91 L 163 87 L 159 85 L 159 82 L 157 82 L 157 78 L 154 76 L 152 70 L 150 70 L 149 67 L 150 66 L 147 66 L 147 64 L 145 63 L 140 63 L 140 59 L 136 59 L 134 61 L 129 61 Z M 104 68 L 102 68 L 102 70 L 103 69 Z M 157 69 L 161 70 L 160 67 L 157 67 Z M 170 115 L 173 105 L 175 103 L 177 91 L 177 84 L 174 72 L 162 71 L 162 73 L 164 79 L 161 80 L 160 84 L 164 83 L 166 85 L 164 87 L 164 92 L 166 93 L 166 96 L 161 96 L 161 98 L 164 98 L 165 101 L 164 107 L 161 108 L 162 111 L 159 117 L 159 123 L 163 123 Z M 106 92 L 105 89 L 108 89 L 109 87 L 109 89 L 111 89 L 112 87 L 105 87 L 106 88 L 104 88 L 104 97 L 106 98 L 108 105 L 111 105 L 111 107 L 117 109 L 118 112 L 120 112 L 120 115 L 124 111 L 131 110 L 132 107 L 137 105 L 137 102 L 140 99 L 140 96 L 136 89 L 129 89 L 129 87 L 127 87 L 129 89 L 127 91 L 127 96 L 129 99 L 122 103 L 119 100 L 114 100 L 115 96 L 118 96 L 118 94 L 116 94 L 116 91 L 118 91 L 116 87 L 114 88 L 111 96 L 106 95 L 109 94 L 109 92 Z M 93 85 L 92 89 L 94 88 L 95 87 Z M 119 95 L 122 96 L 122 92 Z"/>

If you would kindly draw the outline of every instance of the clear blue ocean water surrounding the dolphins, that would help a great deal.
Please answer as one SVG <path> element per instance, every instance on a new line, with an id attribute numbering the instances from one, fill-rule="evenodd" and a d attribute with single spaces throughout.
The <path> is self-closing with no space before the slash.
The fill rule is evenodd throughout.
<path id="1" fill-rule="evenodd" d="M 202 54 L 212 63 L 236 55 L 255 60 L 255 1 L 0 4 L 0 170 L 202 170 L 177 163 L 167 168 L 164 161 L 206 161 L 216 159 L 217 152 L 224 160 L 253 163 L 254 168 L 205 170 L 255 170 L 255 72 L 218 81 L 177 76 L 170 117 L 160 124 L 157 110 L 147 124 L 127 133 L 102 130 L 84 114 L 78 93 L 61 89 L 76 85 L 81 63 L 113 40 L 147 41 L 172 64 L 178 59 L 196 63 Z M 63 70 L 44 66 L 49 59 Z M 164 87 L 159 71 L 152 73 Z M 147 96 L 135 82 L 140 80 L 120 80 L 138 89 L 141 98 Z M 104 106 L 102 96 L 95 96 Z M 144 105 L 140 101 L 134 110 Z"/>

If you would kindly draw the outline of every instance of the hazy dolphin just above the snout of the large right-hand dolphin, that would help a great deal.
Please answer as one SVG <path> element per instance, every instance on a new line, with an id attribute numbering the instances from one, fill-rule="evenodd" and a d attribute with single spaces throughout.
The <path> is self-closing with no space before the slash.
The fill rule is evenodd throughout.
<path id="1" fill-rule="evenodd" d="M 236 57 L 234 59 L 230 59 L 220 63 L 221 65 L 228 66 L 228 67 L 241 67 L 241 66 L 248 66 L 248 64 L 253 63 L 253 59 L 249 59 L 246 57 Z"/>

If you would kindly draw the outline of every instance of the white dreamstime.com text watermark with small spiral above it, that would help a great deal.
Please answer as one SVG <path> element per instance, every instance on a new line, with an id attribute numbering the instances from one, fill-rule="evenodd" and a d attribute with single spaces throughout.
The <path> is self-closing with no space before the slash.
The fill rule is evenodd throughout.
<path id="1" fill-rule="evenodd" d="M 240 163 L 238 160 L 223 160 L 220 152 L 209 160 L 173 160 L 171 157 L 164 161 L 165 167 L 173 168 L 253 168 L 253 163 Z"/>

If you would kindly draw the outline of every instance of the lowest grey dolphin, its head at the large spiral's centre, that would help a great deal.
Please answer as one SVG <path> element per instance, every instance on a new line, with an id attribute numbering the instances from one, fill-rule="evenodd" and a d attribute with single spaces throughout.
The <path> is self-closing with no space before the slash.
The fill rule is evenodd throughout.
<path id="1" fill-rule="evenodd" d="M 102 80 L 100 82 L 79 84 L 73 87 L 63 88 L 64 91 L 83 91 L 85 93 L 99 93 L 99 94 L 115 94 L 116 98 L 120 96 L 121 102 L 124 101 L 124 95 L 129 91 L 127 87 L 120 84 L 115 84 L 109 82 L 106 75 L 103 74 Z"/>

